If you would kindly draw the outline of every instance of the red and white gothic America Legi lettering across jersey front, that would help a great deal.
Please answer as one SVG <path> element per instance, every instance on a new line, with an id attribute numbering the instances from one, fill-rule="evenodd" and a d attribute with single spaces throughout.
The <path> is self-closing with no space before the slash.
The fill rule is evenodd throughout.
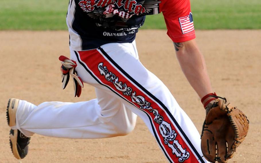
<path id="1" fill-rule="evenodd" d="M 160 1 L 149 0 L 149 7 L 145 8 L 141 3 L 136 0 L 81 0 L 79 6 L 87 13 L 93 12 L 96 9 L 103 9 L 104 15 L 118 15 L 121 18 L 129 19 L 133 15 L 143 15 L 149 13 L 151 8 L 157 7 Z M 151 3 L 152 1 L 152 3 Z M 143 3 L 146 3 L 143 1 Z"/>

